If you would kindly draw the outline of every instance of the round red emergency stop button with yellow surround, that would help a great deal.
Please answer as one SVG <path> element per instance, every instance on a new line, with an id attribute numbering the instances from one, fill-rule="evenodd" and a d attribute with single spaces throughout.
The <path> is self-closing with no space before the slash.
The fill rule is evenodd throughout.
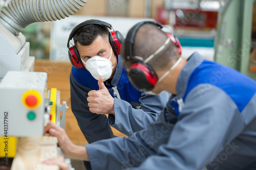
<path id="1" fill-rule="evenodd" d="M 23 94 L 22 102 L 25 107 L 35 109 L 41 104 L 41 95 L 36 90 L 28 90 Z"/>

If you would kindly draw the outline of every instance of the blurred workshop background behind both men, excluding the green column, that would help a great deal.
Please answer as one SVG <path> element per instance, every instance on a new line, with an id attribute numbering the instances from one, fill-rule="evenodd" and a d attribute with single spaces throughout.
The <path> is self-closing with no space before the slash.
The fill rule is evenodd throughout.
<path id="1" fill-rule="evenodd" d="M 9 2 L 10 0 L 0 0 L 1 9 Z M 173 28 L 174 34 L 182 44 L 182 57 L 187 58 L 194 51 L 198 51 L 205 58 L 214 60 L 215 45 L 218 45 L 215 42 L 217 20 L 220 15 L 218 11 L 227 2 L 219 0 L 88 0 L 88 3 L 73 16 L 52 22 L 32 23 L 22 33 L 26 41 L 30 42 L 30 56 L 35 56 L 35 71 L 48 73 L 48 88 L 56 87 L 60 90 L 61 102 L 67 101 L 70 107 L 71 64 L 66 44 L 69 33 L 78 23 L 90 18 L 102 19 L 112 23 L 113 28 L 125 36 L 129 26 L 132 27 L 141 20 L 155 19 Z M 250 70 L 255 71 L 256 51 L 253 51 L 256 44 L 255 3 L 251 22 Z M 232 38 L 229 39 L 231 45 Z M 66 131 L 72 142 L 87 144 L 71 108 L 66 115 Z M 114 132 L 117 136 L 123 136 L 116 130 Z"/>

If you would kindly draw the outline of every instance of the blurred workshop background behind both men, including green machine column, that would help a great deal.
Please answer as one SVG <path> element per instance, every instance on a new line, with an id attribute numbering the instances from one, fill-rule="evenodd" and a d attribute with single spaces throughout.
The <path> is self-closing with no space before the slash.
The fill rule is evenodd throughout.
<path id="1" fill-rule="evenodd" d="M 0 9 L 9 2 L 0 0 Z M 34 71 L 47 72 L 48 89 L 57 88 L 61 103 L 67 101 L 65 130 L 75 144 L 88 142 L 71 111 L 69 76 L 72 65 L 67 41 L 78 23 L 92 18 L 112 23 L 124 36 L 139 21 L 159 21 L 170 26 L 179 38 L 182 57 L 198 51 L 209 60 L 256 79 L 256 4 L 253 0 L 88 0 L 73 16 L 36 22 L 22 32 L 30 42 L 30 56 L 35 57 Z M 113 131 L 117 136 L 124 136 Z"/>

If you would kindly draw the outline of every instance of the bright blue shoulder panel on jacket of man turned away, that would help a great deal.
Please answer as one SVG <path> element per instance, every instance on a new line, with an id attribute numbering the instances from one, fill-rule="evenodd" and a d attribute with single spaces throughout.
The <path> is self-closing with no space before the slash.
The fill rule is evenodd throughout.
<path id="1" fill-rule="evenodd" d="M 206 91 L 210 88 L 207 84 L 215 85 L 225 91 L 237 104 L 240 112 L 256 92 L 254 80 L 237 70 L 208 60 L 204 60 L 190 75 L 184 99 L 189 91 L 199 84 L 205 84 Z"/>

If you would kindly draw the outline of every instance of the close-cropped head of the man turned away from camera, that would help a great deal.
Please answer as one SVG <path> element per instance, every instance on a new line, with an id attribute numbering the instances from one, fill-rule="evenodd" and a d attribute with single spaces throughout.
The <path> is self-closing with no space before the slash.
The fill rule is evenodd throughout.
<path id="1" fill-rule="evenodd" d="M 135 36 L 133 44 L 133 55 L 142 57 L 143 60 L 154 54 L 158 48 L 164 44 L 168 36 L 160 30 L 157 26 L 151 24 L 145 24 L 141 26 Z M 125 44 L 122 44 L 121 56 L 124 58 Z M 169 68 L 170 62 L 175 62 L 180 57 L 177 47 L 173 42 L 169 42 L 165 48 L 154 58 L 148 61 L 147 64 L 151 65 L 155 70 L 162 70 Z M 136 60 L 136 59 L 135 59 Z M 132 62 L 124 63 L 127 67 L 130 67 Z"/>

